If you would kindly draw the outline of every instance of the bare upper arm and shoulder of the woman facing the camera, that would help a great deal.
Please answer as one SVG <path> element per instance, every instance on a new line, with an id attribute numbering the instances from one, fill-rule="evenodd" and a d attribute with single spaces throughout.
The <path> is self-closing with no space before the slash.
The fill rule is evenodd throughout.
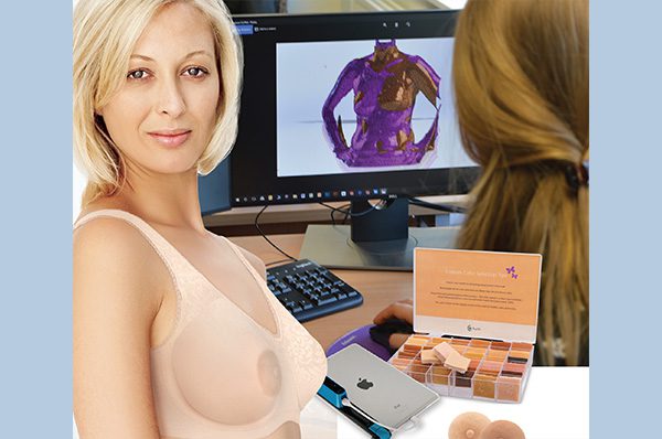
<path id="1" fill-rule="evenodd" d="M 81 439 L 160 437 L 150 381 L 160 270 L 167 269 L 158 255 L 127 223 L 99 218 L 74 233 L 74 415 Z"/>

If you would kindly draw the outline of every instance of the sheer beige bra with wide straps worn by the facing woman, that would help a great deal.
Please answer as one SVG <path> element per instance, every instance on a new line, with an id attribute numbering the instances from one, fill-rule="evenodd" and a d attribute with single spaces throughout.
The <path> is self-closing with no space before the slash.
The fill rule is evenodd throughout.
<path id="1" fill-rule="evenodd" d="M 82 217 L 124 220 L 142 233 L 168 267 L 177 291 L 172 332 L 151 350 L 151 381 L 161 436 L 177 439 L 264 438 L 301 408 L 327 374 L 320 344 L 280 304 L 229 240 L 266 298 L 276 333 L 218 291 L 163 236 L 136 215 L 103 210 Z"/>

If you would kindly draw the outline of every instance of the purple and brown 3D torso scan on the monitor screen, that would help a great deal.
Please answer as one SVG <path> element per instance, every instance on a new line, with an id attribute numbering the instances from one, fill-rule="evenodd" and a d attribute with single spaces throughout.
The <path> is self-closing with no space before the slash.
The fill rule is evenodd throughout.
<path id="1" fill-rule="evenodd" d="M 322 107 L 324 130 L 335 157 L 348 167 L 417 164 L 435 149 L 439 75 L 420 56 L 398 50 L 395 40 L 375 41 L 374 52 L 351 61 Z M 342 118 L 333 110 L 353 92 L 356 128 L 348 143 Z M 418 94 L 435 108 L 428 131 L 416 141 L 412 115 Z"/>

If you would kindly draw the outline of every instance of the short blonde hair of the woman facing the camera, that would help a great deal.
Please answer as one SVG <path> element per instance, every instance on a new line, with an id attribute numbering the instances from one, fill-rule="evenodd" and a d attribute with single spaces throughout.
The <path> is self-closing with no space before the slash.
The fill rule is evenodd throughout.
<path id="1" fill-rule="evenodd" d="M 74 10 L 74 159 L 88 179 L 83 206 L 116 193 L 124 184 L 122 157 L 96 110 L 122 86 L 131 51 L 151 18 L 175 1 L 185 1 L 207 18 L 221 76 L 216 126 L 197 161 L 197 172 L 211 172 L 232 149 L 237 132 L 243 52 L 221 0 L 79 0 Z"/>

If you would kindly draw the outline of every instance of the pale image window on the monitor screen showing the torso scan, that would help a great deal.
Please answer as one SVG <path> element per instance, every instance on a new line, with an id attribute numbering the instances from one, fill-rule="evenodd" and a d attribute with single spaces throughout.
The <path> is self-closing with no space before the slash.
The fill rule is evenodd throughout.
<path id="1" fill-rule="evenodd" d="M 471 167 L 451 38 L 286 42 L 276 56 L 278 178 Z"/>

